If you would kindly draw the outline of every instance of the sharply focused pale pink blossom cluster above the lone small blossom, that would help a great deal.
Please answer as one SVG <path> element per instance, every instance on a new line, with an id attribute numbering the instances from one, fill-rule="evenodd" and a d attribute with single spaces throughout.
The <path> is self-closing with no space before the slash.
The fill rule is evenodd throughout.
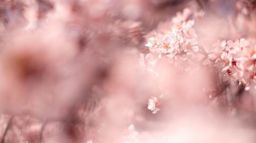
<path id="1" fill-rule="evenodd" d="M 173 60 L 176 55 L 186 55 L 182 58 L 186 60 L 188 55 L 199 51 L 194 20 L 188 20 L 190 14 L 188 9 L 177 13 L 172 22 L 161 25 L 164 30 L 159 29 L 147 40 L 145 46 L 150 51 L 145 55 L 147 65 L 154 67 L 163 56 Z"/>

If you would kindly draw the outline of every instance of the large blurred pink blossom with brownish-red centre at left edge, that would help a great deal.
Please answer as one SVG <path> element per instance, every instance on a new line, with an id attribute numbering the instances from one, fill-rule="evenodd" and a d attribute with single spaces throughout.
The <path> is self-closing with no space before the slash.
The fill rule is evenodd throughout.
<path id="1" fill-rule="evenodd" d="M 57 116 L 57 110 L 60 109 L 58 105 L 63 102 L 67 105 L 67 101 L 70 102 L 70 100 L 64 101 L 66 99 L 64 97 L 68 97 L 68 93 L 72 90 L 65 88 L 67 91 L 63 94 L 63 86 L 72 87 L 70 82 L 75 79 L 75 76 L 69 76 L 71 70 L 67 68 L 75 57 L 76 50 L 68 40 L 53 43 L 50 42 L 50 38 L 39 38 L 39 35 L 43 34 L 45 33 L 34 31 L 33 34 L 23 33 L 23 37 L 12 36 L 7 42 L 4 41 L 8 44 L 2 47 L 1 52 L 0 73 L 1 77 L 6 79 L 5 83 L 0 82 L 0 92 L 5 93 L 0 97 L 1 109 L 13 112 L 29 110 L 36 116 L 45 114 Z M 49 37 L 52 36 L 51 33 L 47 34 Z M 62 40 L 62 37 L 58 36 L 58 38 Z M 61 95 L 62 99 L 57 99 L 58 95 Z M 74 94 L 70 95 L 74 98 Z M 51 113 L 47 112 L 48 109 L 45 107 L 50 102 L 54 102 L 52 105 L 56 107 L 47 106 L 51 108 Z"/>

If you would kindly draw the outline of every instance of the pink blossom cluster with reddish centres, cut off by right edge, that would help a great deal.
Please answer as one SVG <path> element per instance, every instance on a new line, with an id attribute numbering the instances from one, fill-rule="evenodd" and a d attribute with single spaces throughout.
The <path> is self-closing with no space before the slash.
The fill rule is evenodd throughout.
<path id="1" fill-rule="evenodd" d="M 222 69 L 224 77 L 239 81 L 245 89 L 256 89 L 256 43 L 253 40 L 218 41 L 208 55 Z M 231 77 L 231 78 L 229 78 Z"/>

